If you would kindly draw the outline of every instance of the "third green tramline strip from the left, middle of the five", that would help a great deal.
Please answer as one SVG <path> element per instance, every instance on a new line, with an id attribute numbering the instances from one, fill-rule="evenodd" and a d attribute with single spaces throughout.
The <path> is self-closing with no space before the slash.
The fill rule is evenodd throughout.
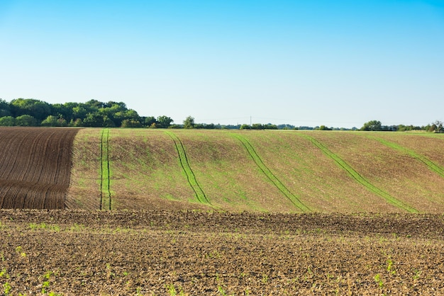
<path id="1" fill-rule="evenodd" d="M 277 176 L 275 176 L 274 173 L 272 173 L 272 171 L 264 164 L 254 147 L 252 147 L 252 144 L 250 144 L 245 137 L 235 134 L 232 135 L 243 144 L 245 149 L 247 149 L 248 154 L 250 154 L 251 158 L 253 161 L 255 161 L 255 164 L 259 167 L 262 173 L 264 173 L 265 176 L 272 181 L 274 186 L 276 186 L 282 194 L 284 194 L 302 212 L 311 212 L 310 208 L 304 205 L 304 203 L 301 203 L 301 200 L 299 200 L 296 195 L 294 195 L 286 186 L 284 186 L 284 184 L 279 181 Z"/>

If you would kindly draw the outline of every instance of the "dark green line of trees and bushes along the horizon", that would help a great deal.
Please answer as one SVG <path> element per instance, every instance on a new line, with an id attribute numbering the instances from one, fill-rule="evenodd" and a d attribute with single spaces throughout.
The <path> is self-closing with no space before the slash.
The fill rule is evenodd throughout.
<path id="1" fill-rule="evenodd" d="M 47 127 L 150 127 L 150 128 L 194 128 L 194 129 L 240 129 L 240 130 L 358 130 L 326 127 L 295 127 L 294 125 L 272 125 L 271 123 L 253 123 L 252 125 L 219 125 L 213 123 L 195 123 L 188 116 L 183 124 L 173 124 L 172 118 L 161 115 L 140 116 L 133 109 L 128 109 L 123 102 L 107 103 L 89 100 L 86 103 L 50 104 L 33 98 L 16 98 L 11 102 L 0 99 L 0 126 L 47 126 Z M 382 125 L 379 120 L 365 123 L 360 130 L 368 131 L 409 131 L 426 130 L 444 132 L 443 123 L 434 123 L 418 127 L 413 125 Z"/>

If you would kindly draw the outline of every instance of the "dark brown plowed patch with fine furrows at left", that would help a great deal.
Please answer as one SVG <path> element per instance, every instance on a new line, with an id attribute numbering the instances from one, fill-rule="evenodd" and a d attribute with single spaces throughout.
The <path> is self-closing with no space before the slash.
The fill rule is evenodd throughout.
<path id="1" fill-rule="evenodd" d="M 63 209 L 77 129 L 0 128 L 0 208 Z"/>

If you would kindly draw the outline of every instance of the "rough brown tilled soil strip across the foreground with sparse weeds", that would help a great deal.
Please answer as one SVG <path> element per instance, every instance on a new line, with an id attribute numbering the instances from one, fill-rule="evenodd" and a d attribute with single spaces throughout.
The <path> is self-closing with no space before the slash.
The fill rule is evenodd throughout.
<path id="1" fill-rule="evenodd" d="M 444 219 L 0 210 L 11 295 L 441 295 Z"/>

